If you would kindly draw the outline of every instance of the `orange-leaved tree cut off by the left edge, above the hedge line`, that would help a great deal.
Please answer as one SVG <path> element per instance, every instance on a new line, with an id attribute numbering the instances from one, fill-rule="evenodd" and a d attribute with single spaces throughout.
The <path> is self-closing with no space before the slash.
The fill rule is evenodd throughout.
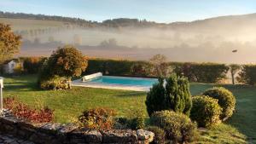
<path id="1" fill-rule="evenodd" d="M 20 36 L 11 32 L 9 25 L 0 23 L 0 62 L 9 60 L 20 50 Z"/>

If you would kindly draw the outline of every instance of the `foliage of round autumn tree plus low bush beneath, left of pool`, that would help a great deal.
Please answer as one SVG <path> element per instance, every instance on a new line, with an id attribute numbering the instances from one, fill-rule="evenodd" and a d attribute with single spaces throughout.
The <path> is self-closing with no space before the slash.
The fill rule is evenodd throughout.
<path id="1" fill-rule="evenodd" d="M 79 77 L 86 67 L 87 60 L 79 50 L 72 46 L 59 48 L 44 62 L 38 84 L 42 89 L 70 89 L 71 78 Z"/>

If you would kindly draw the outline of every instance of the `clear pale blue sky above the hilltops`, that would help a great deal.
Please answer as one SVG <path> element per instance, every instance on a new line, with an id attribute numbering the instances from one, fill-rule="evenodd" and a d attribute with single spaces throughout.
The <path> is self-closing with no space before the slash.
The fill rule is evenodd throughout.
<path id="1" fill-rule="evenodd" d="M 137 18 L 156 22 L 202 20 L 256 13 L 255 0 L 0 0 L 0 10 L 79 17 L 85 20 Z"/>

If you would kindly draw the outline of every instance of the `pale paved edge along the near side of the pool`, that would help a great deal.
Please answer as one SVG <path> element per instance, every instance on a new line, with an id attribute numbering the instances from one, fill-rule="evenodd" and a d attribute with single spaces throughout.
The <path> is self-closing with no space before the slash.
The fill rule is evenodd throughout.
<path id="1" fill-rule="evenodd" d="M 74 80 L 73 86 L 88 87 L 88 88 L 101 88 L 101 89 L 121 89 L 121 90 L 132 90 L 132 91 L 148 91 L 150 87 L 141 86 L 130 86 L 121 84 L 96 84 L 91 82 L 82 82 L 81 79 Z"/>

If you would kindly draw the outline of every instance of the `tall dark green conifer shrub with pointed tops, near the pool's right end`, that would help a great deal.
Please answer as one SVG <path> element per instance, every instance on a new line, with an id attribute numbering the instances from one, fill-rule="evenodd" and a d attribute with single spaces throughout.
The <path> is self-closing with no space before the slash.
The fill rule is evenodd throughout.
<path id="1" fill-rule="evenodd" d="M 192 101 L 188 79 L 172 74 L 166 79 L 165 86 L 163 83 L 163 79 L 160 79 L 159 84 L 154 84 L 148 92 L 146 99 L 148 115 L 161 110 L 173 110 L 189 115 Z"/>

